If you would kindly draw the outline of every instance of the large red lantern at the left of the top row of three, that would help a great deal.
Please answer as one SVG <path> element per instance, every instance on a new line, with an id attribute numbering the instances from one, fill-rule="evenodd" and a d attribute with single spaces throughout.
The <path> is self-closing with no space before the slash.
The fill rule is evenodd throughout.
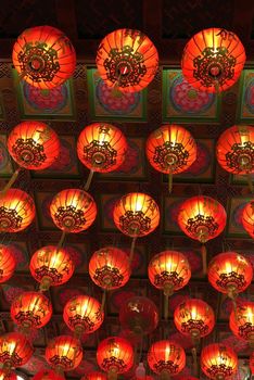
<path id="1" fill-rule="evenodd" d="M 35 26 L 17 37 L 12 62 L 28 84 L 50 90 L 74 74 L 76 53 L 63 31 L 47 25 Z"/>

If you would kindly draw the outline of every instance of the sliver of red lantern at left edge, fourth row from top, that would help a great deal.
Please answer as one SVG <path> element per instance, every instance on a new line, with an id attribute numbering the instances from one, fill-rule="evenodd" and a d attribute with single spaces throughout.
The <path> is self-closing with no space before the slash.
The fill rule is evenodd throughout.
<path id="1" fill-rule="evenodd" d="M 16 261 L 11 246 L 0 244 L 0 283 L 12 277 L 16 267 Z"/>

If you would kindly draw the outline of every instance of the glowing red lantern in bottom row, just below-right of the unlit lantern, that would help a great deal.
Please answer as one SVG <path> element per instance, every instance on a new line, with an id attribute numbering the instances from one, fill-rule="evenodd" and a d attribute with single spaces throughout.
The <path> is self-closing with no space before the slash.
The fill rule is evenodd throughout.
<path id="1" fill-rule="evenodd" d="M 148 364 L 151 370 L 161 376 L 178 375 L 186 366 L 185 350 L 170 341 L 158 341 L 148 352 Z"/>

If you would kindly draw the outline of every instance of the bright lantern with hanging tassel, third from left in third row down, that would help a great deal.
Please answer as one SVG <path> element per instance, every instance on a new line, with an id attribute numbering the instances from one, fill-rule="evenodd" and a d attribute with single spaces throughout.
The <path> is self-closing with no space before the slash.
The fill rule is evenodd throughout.
<path id="1" fill-rule="evenodd" d="M 150 195 L 130 192 L 116 202 L 113 218 L 123 233 L 134 238 L 130 250 L 131 262 L 136 239 L 151 233 L 158 226 L 160 210 Z"/>

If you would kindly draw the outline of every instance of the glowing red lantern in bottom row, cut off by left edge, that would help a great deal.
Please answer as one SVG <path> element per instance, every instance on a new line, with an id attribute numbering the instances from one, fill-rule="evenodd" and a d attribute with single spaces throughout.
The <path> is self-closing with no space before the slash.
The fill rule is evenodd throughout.
<path id="1" fill-rule="evenodd" d="M 25 335 L 8 332 L 0 337 L 0 363 L 4 368 L 24 366 L 33 355 L 33 347 Z"/>

